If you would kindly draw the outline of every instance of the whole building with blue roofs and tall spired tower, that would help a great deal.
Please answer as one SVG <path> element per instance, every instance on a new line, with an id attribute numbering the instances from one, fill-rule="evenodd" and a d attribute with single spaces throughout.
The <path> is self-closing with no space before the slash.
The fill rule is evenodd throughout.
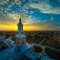
<path id="1" fill-rule="evenodd" d="M 48 55 L 34 52 L 34 44 L 26 42 L 26 35 L 23 32 L 23 24 L 21 18 L 18 23 L 18 34 L 16 35 L 16 43 L 9 37 L 3 40 L 4 49 L 0 50 L 0 60 L 53 60 Z"/>

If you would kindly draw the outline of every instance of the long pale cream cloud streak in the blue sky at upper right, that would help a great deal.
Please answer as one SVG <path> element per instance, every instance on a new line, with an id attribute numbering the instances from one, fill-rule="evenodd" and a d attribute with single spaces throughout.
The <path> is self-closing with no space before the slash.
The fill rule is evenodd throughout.
<path id="1" fill-rule="evenodd" d="M 42 13 L 60 14 L 60 7 L 52 7 L 50 3 L 31 3 L 30 7 L 39 9 Z"/>

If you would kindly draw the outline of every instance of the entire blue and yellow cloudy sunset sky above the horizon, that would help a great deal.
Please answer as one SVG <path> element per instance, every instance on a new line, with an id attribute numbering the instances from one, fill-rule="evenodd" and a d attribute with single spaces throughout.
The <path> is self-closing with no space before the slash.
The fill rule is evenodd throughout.
<path id="1" fill-rule="evenodd" d="M 0 0 L 0 31 L 60 31 L 60 0 Z"/>

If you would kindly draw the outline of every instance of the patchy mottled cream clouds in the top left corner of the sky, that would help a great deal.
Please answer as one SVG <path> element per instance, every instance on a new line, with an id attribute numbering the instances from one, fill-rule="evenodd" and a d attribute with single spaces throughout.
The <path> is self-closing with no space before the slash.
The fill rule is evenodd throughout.
<path id="1" fill-rule="evenodd" d="M 19 8 L 22 2 L 20 0 L 1 0 L 0 1 L 0 12 L 4 10 L 4 13 L 8 13 L 12 11 L 12 7 L 17 5 Z M 5 6 L 6 5 L 6 6 Z M 19 10 L 19 8 L 17 8 Z"/>

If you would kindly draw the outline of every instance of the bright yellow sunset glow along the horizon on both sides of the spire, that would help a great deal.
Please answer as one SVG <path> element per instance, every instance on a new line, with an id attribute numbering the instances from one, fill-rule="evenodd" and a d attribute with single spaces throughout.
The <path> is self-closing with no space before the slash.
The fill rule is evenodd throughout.
<path id="1" fill-rule="evenodd" d="M 24 31 L 39 31 L 39 30 L 45 30 L 46 28 L 42 28 L 41 26 L 24 26 Z M 18 26 L 17 25 L 2 25 L 0 24 L 0 30 L 1 31 L 17 31 Z"/>

